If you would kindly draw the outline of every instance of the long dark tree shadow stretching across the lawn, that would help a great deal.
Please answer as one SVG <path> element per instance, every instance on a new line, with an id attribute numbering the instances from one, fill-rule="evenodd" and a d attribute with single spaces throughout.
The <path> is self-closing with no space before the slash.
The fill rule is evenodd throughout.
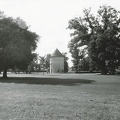
<path id="1" fill-rule="evenodd" d="M 0 83 L 16 83 L 16 84 L 41 84 L 41 85 L 65 85 L 75 86 L 79 84 L 90 84 L 94 80 L 81 79 L 62 79 L 62 78 L 33 78 L 33 77 L 10 77 L 7 79 L 0 78 Z"/>

